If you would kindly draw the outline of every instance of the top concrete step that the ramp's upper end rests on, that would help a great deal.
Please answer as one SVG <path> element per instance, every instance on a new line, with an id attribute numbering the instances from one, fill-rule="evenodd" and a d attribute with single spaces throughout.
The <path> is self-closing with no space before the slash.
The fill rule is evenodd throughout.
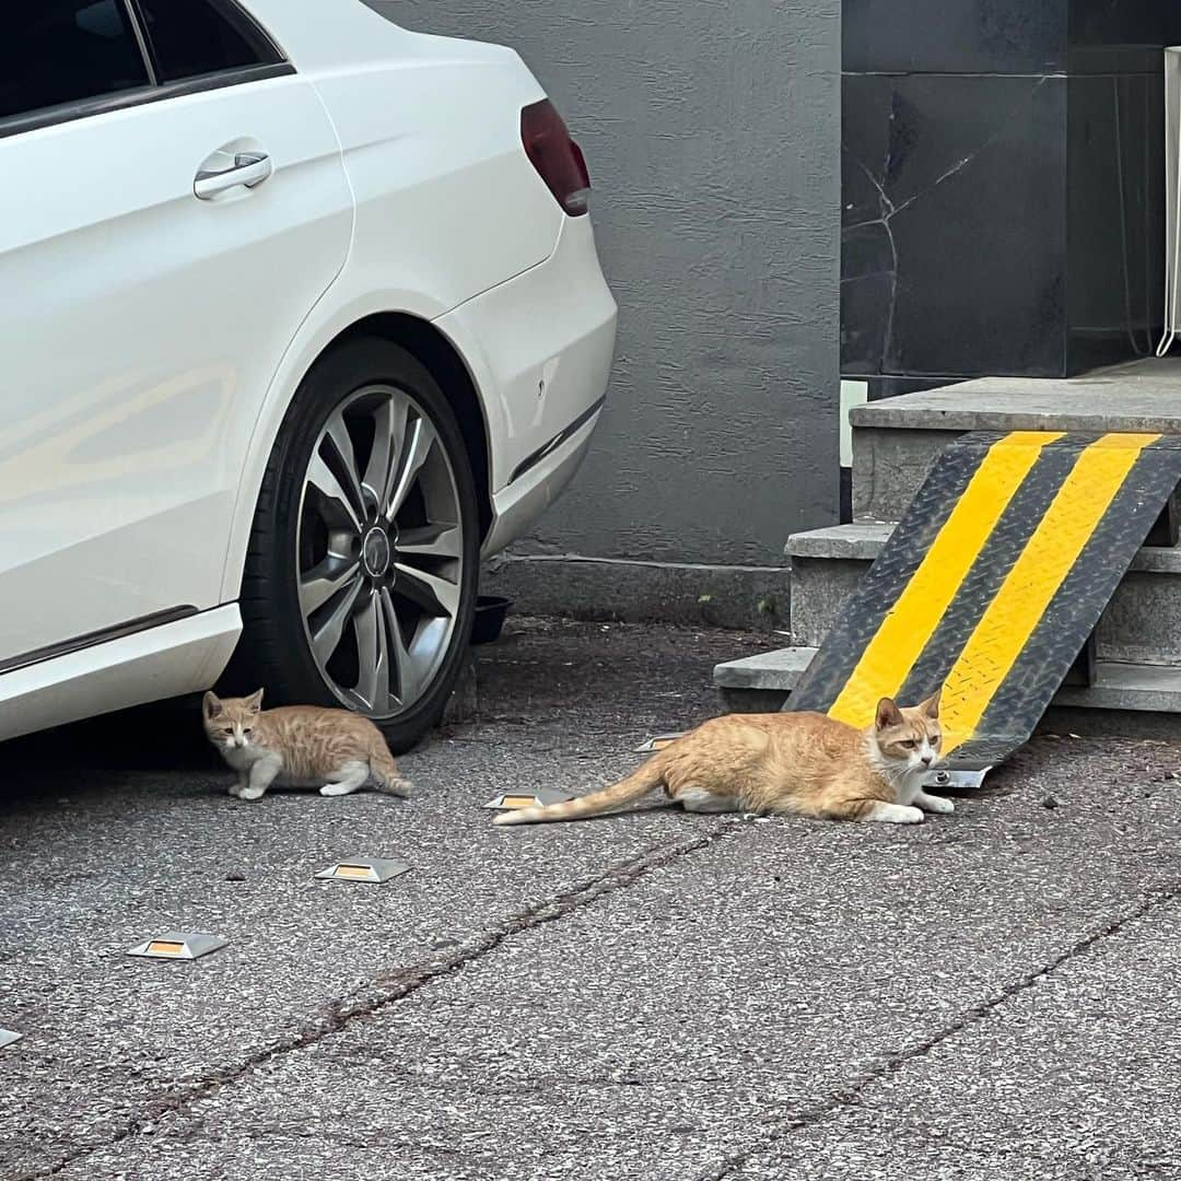
<path id="1" fill-rule="evenodd" d="M 1076 378 L 980 378 L 854 406 L 853 514 L 898 521 L 935 456 L 966 431 L 1181 433 L 1181 358 Z"/>

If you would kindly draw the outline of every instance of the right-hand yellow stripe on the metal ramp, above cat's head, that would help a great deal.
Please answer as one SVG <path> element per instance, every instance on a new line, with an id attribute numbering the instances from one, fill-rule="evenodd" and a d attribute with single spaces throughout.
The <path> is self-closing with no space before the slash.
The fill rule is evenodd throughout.
<path id="1" fill-rule="evenodd" d="M 945 755 L 976 732 L 1140 452 L 1159 438 L 1104 435 L 1078 457 L 944 683 Z M 935 622 L 940 615 L 942 609 Z"/>

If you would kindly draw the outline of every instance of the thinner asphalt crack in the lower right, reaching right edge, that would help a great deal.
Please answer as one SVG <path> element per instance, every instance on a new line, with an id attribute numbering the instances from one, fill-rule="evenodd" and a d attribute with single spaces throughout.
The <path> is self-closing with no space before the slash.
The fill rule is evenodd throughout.
<path id="1" fill-rule="evenodd" d="M 1100 927 L 1097 931 L 1092 931 L 1089 935 L 1084 935 L 1077 942 L 1071 944 L 1066 951 L 1056 955 L 1037 971 L 1027 972 L 1017 980 L 1004 985 L 991 997 L 977 1005 L 973 1005 L 971 1009 L 965 1010 L 958 1018 L 955 1018 L 955 1020 L 950 1022 L 947 1025 L 935 1030 L 935 1032 L 911 1046 L 911 1049 L 886 1058 L 879 1065 L 863 1074 L 849 1087 L 840 1091 L 834 1091 L 833 1095 L 823 1102 L 805 1108 L 800 1113 L 800 1115 L 784 1121 L 777 1129 L 770 1133 L 770 1135 L 764 1136 L 762 1140 L 738 1153 L 731 1153 L 723 1157 L 723 1160 L 715 1168 L 706 1173 L 698 1174 L 694 1181 L 724 1181 L 725 1177 L 732 1176 L 753 1156 L 766 1151 L 781 1141 L 787 1140 L 794 1133 L 804 1131 L 815 1124 L 822 1123 L 824 1120 L 829 1118 L 829 1116 L 836 1115 L 840 1111 L 853 1107 L 875 1083 L 892 1078 L 909 1063 L 915 1062 L 919 1058 L 925 1058 L 932 1050 L 941 1045 L 944 1042 L 955 1037 L 957 1033 L 976 1025 L 978 1022 L 987 1019 L 996 1010 L 1007 1004 L 1014 997 L 1029 991 L 1038 984 L 1038 981 L 1053 974 L 1061 967 L 1070 964 L 1079 955 L 1087 954 L 1087 952 L 1089 952 L 1097 944 L 1118 934 L 1129 924 L 1137 922 L 1141 919 L 1148 918 L 1154 912 L 1163 909 L 1170 902 L 1175 902 L 1179 896 L 1181 896 L 1181 883 L 1149 892 L 1149 894 L 1144 896 L 1137 906 L 1125 911 L 1117 919 L 1114 919 L 1105 926 Z"/>

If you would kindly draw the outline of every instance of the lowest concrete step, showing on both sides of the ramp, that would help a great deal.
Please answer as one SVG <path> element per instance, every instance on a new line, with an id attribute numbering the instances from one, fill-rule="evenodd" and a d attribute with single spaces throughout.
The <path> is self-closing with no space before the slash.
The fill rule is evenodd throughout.
<path id="1" fill-rule="evenodd" d="M 751 712 L 762 712 L 788 699 L 815 654 L 814 647 L 790 647 L 730 660 L 713 670 L 713 683 L 723 691 L 730 709 L 740 712 L 749 700 Z M 1063 711 L 1107 711 L 1113 717 L 1104 729 L 1113 732 L 1130 730 L 1175 736 L 1176 718 L 1159 719 L 1163 723 L 1162 730 L 1148 718 L 1131 719 L 1129 724 L 1127 716 L 1181 713 L 1181 667 L 1101 660 L 1094 685 L 1063 686 L 1055 696 L 1053 706 L 1059 711 L 1059 719 Z M 1118 720 L 1121 716 L 1123 724 Z M 1065 717 L 1069 719 L 1072 715 Z M 1088 725 L 1087 729 L 1094 727 Z"/>

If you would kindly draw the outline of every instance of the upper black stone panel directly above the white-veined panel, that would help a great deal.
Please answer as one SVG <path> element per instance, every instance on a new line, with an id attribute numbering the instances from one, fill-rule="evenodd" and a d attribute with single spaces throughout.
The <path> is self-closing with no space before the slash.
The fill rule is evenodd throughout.
<path id="1" fill-rule="evenodd" d="M 1068 0 L 844 0 L 842 68 L 1053 73 L 1066 65 L 1068 27 Z"/>

